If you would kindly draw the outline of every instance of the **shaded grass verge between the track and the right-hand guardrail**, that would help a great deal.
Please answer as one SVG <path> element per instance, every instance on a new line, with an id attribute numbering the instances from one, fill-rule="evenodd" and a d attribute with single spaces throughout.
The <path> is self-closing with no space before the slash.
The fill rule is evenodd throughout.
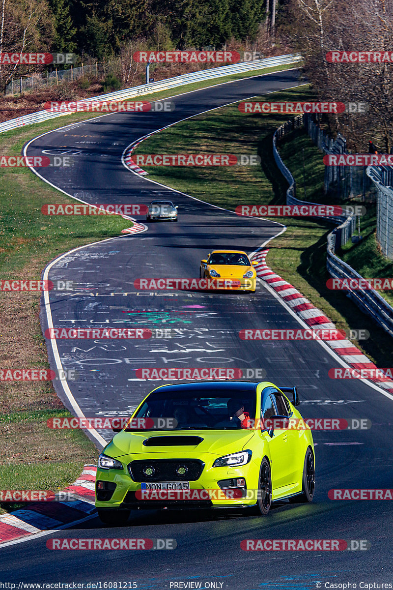
<path id="1" fill-rule="evenodd" d="M 311 100 L 308 87 L 281 91 L 260 97 L 260 100 L 306 101 Z M 211 113 L 205 113 L 183 123 L 178 123 L 144 140 L 134 153 L 258 153 L 261 166 L 230 166 L 189 168 L 187 175 L 181 167 L 153 167 L 146 170 L 150 178 L 169 185 L 179 191 L 193 195 L 203 201 L 234 210 L 241 204 L 285 204 L 288 188 L 278 170 L 272 153 L 272 136 L 285 120 L 277 114 L 245 115 L 239 113 L 237 104 Z M 288 168 L 303 172 L 303 152 L 298 139 L 283 142 L 281 155 Z M 306 145 L 308 151 L 318 149 Z M 318 152 L 318 159 L 322 155 Z M 305 160 L 306 163 L 306 160 Z M 316 202 L 321 188 L 320 172 L 308 175 L 305 170 L 306 195 Z M 323 175 L 322 175 L 323 179 Z M 298 181 L 302 184 L 303 179 Z M 299 198 L 302 198 L 300 192 Z M 349 303 L 343 293 L 330 291 L 326 287 L 329 275 L 326 271 L 326 236 L 333 225 L 321 220 L 274 218 L 287 226 L 287 231 L 270 242 L 267 262 L 283 278 L 296 286 L 305 297 L 323 310 L 339 329 L 365 328 L 372 339 L 356 342 L 374 360 L 377 366 L 389 366 L 391 339 L 354 304 Z M 242 244 L 237 244 L 242 247 Z"/>

